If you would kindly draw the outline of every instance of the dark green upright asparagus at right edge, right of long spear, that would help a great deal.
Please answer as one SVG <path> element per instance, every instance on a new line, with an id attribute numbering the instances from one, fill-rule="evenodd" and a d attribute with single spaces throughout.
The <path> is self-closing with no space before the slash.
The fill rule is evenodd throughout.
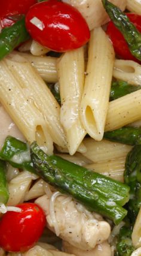
<path id="1" fill-rule="evenodd" d="M 134 146 L 127 155 L 124 180 L 130 186 L 128 217 L 134 223 L 141 206 L 141 145 Z"/>

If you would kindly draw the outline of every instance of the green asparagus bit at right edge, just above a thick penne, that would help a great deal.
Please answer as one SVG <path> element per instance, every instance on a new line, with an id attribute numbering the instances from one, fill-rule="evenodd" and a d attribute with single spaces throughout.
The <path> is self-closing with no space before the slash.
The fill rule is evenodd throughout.
<path id="1" fill-rule="evenodd" d="M 112 82 L 111 92 L 110 92 L 110 101 L 116 100 L 124 95 L 130 94 L 141 89 L 141 86 L 130 85 L 124 81 Z"/>

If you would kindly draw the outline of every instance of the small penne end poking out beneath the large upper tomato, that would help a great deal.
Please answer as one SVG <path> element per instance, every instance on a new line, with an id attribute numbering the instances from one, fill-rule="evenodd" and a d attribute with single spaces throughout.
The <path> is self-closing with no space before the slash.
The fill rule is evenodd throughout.
<path id="1" fill-rule="evenodd" d="M 30 45 L 30 53 L 32 53 L 32 55 L 41 56 L 48 52 L 50 52 L 50 49 L 48 49 L 47 47 L 41 46 L 41 44 L 32 40 L 32 43 Z"/>

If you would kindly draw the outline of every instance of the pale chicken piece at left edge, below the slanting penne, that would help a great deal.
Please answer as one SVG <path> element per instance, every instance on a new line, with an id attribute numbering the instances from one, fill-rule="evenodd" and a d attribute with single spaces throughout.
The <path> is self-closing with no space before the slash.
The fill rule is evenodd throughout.
<path id="1" fill-rule="evenodd" d="M 5 138 L 8 135 L 19 138 L 19 140 L 24 140 L 22 133 L 16 127 L 16 124 L 11 120 L 10 116 L 0 104 L 0 120 L 1 120 L 1 130 L 0 130 L 0 149 L 4 143 Z"/>

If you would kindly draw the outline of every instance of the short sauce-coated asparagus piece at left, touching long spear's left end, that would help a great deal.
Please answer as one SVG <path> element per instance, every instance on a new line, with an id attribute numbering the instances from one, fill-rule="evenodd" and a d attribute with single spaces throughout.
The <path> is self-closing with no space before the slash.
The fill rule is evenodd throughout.
<path id="1" fill-rule="evenodd" d="M 21 168 L 34 173 L 33 164 L 30 161 L 29 147 L 23 141 L 8 136 L 0 151 L 0 158 L 10 162 L 16 168 Z"/>

